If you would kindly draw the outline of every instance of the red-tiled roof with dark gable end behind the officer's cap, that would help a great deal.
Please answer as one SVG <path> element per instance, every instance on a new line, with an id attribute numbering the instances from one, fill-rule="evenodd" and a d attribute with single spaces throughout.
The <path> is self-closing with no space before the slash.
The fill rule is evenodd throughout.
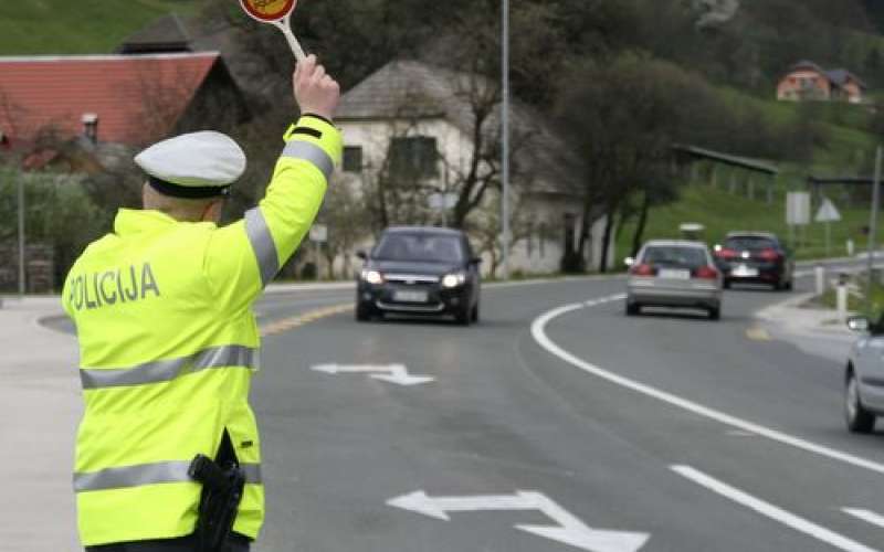
<path id="1" fill-rule="evenodd" d="M 0 135 L 13 148 L 46 135 L 137 147 L 248 117 L 218 52 L 0 57 Z"/>

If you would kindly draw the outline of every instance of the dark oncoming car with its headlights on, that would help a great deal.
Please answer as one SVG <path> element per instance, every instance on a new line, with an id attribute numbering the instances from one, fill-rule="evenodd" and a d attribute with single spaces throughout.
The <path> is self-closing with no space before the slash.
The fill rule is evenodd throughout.
<path id="1" fill-rule="evenodd" d="M 356 286 L 356 319 L 386 314 L 451 315 L 478 321 L 481 259 L 463 232 L 425 226 L 383 231 L 366 255 Z"/>

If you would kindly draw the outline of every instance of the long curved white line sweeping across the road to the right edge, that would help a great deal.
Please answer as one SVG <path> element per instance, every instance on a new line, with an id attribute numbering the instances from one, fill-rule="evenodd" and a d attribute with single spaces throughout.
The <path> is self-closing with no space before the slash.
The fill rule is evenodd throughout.
<path id="1" fill-rule="evenodd" d="M 617 300 L 617 299 L 622 299 L 623 297 L 624 296 L 621 294 L 608 297 L 608 299 Z M 871 471 L 875 471 L 877 474 L 884 474 L 884 464 L 861 458 L 859 456 L 849 453 L 842 453 L 841 450 L 835 450 L 833 448 L 823 445 L 818 445 L 815 443 L 804 440 L 799 437 L 794 437 L 792 435 L 779 432 L 777 429 L 771 429 L 770 427 L 766 427 L 760 424 L 756 424 L 754 422 L 739 418 L 737 416 L 732 416 L 730 414 L 726 414 L 724 412 L 709 408 L 693 401 L 688 401 L 687 399 L 682 399 L 681 396 L 674 395 L 666 391 L 662 391 L 656 388 L 652 388 L 651 385 L 645 385 L 644 383 L 640 383 L 635 380 L 630 380 L 629 378 L 624 378 L 613 372 L 609 372 L 608 370 L 591 364 L 571 354 L 570 352 L 566 351 L 565 349 L 552 342 L 551 339 L 549 339 L 549 337 L 546 335 L 546 326 L 555 318 L 585 308 L 583 305 L 585 305 L 583 302 L 565 305 L 562 307 L 555 308 L 537 317 L 534 320 L 534 322 L 532 322 L 532 336 L 534 337 L 534 340 L 537 342 L 537 344 L 546 349 L 547 352 L 564 360 L 565 362 L 576 368 L 579 368 L 585 372 L 596 375 L 597 378 L 601 378 L 602 380 L 608 380 L 609 382 L 620 385 L 622 388 L 627 388 L 638 393 L 642 393 L 644 395 L 654 397 L 659 401 L 663 401 L 664 403 L 686 410 L 698 416 L 707 417 L 709 420 L 714 420 L 716 422 L 729 425 L 732 427 L 736 427 L 738 429 L 755 433 L 762 437 L 767 437 L 771 440 L 776 440 L 785 445 L 800 448 L 802 450 L 807 450 L 809 453 L 813 453 L 819 456 L 824 456 L 833 460 L 842 461 L 844 464 L 850 464 L 851 466 L 864 468 Z"/>

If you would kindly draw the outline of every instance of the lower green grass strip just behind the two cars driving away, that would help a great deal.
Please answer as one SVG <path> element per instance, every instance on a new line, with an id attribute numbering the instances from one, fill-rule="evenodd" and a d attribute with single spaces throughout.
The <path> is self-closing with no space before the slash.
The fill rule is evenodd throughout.
<path id="1" fill-rule="evenodd" d="M 789 240 L 786 225 L 786 198 L 782 182 L 778 183 L 778 192 L 772 205 L 764 201 L 762 188 L 757 187 L 757 200 L 750 201 L 745 192 L 732 194 L 724 183 L 713 188 L 707 183 L 695 183 L 683 189 L 682 198 L 676 203 L 653 209 L 645 231 L 645 240 L 651 237 L 678 237 L 678 225 L 684 222 L 697 222 L 706 226 L 704 238 L 714 245 L 730 231 L 767 231 L 775 232 L 783 240 Z M 862 233 L 869 224 L 869 209 L 850 205 L 840 193 L 830 192 L 830 199 L 841 212 L 842 221 L 832 223 L 833 256 L 845 255 L 846 241 L 853 240 L 856 251 L 866 246 L 866 237 Z M 813 205 L 815 214 L 819 205 Z M 634 221 L 623 226 L 618 235 L 618 258 L 630 253 Z M 799 258 L 820 258 L 828 256 L 825 251 L 825 226 L 811 224 L 794 236 L 793 246 Z"/>

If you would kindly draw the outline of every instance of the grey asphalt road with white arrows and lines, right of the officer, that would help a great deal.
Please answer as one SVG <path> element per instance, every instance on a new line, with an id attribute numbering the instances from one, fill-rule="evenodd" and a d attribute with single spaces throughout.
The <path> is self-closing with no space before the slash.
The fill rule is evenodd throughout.
<path id="1" fill-rule="evenodd" d="M 471 328 L 339 312 L 267 336 L 255 549 L 884 550 L 884 434 L 845 432 L 839 364 L 747 335 L 785 294 L 730 291 L 709 322 L 627 318 L 622 290 L 486 287 Z M 308 300 L 351 291 L 259 310 Z"/>

